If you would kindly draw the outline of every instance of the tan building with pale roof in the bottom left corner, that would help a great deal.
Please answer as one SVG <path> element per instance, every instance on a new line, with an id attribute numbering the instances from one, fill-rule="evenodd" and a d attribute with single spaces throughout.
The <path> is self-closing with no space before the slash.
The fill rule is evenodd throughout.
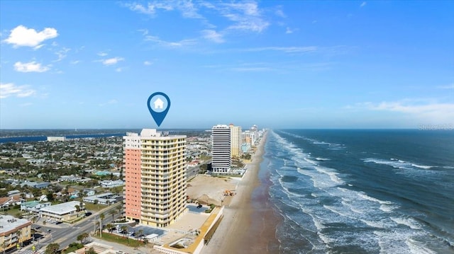
<path id="1" fill-rule="evenodd" d="M 31 221 L 11 215 L 0 215 L 0 252 L 22 246 L 31 239 Z"/>

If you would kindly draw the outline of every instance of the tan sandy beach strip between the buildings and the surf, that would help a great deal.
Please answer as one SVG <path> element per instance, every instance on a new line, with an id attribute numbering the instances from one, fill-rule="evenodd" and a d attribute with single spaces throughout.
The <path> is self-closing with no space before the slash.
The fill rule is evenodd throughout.
<path id="1" fill-rule="evenodd" d="M 260 171 L 265 142 L 266 134 L 238 183 L 237 195 L 226 205 L 223 221 L 202 253 L 279 253 L 275 237 L 279 218 L 269 203 L 268 175 Z"/>

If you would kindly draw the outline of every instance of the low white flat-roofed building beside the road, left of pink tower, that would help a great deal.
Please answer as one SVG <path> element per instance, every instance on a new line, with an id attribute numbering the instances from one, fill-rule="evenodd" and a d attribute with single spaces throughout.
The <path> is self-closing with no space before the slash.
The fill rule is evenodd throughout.
<path id="1" fill-rule="evenodd" d="M 57 221 L 72 222 L 84 217 L 84 212 L 80 210 L 79 201 L 70 201 L 62 204 L 51 205 L 40 209 L 40 218 L 55 219 Z M 79 209 L 79 211 L 78 211 Z"/>

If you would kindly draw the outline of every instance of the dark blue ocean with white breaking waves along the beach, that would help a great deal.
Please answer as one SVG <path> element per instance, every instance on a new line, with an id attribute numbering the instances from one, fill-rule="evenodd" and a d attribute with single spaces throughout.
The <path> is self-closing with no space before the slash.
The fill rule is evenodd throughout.
<path id="1" fill-rule="evenodd" d="M 454 132 L 273 130 L 280 253 L 454 253 Z"/>

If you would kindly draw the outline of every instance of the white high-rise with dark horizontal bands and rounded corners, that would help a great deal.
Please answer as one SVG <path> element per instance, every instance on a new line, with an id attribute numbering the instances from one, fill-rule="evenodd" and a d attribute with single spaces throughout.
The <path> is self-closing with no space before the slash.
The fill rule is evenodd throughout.
<path id="1" fill-rule="evenodd" d="M 230 173 L 231 164 L 231 129 L 227 125 L 215 125 L 211 129 L 211 168 L 213 168 L 213 173 Z"/>

